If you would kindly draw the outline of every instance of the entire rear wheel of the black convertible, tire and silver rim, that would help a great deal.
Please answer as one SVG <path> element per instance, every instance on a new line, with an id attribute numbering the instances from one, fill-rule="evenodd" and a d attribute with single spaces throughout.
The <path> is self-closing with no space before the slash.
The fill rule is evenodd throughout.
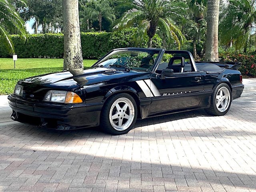
<path id="1" fill-rule="evenodd" d="M 222 116 L 225 115 L 231 105 L 232 95 L 230 87 L 226 83 L 219 84 L 214 88 L 211 98 L 211 106 L 206 109 L 211 115 Z"/>

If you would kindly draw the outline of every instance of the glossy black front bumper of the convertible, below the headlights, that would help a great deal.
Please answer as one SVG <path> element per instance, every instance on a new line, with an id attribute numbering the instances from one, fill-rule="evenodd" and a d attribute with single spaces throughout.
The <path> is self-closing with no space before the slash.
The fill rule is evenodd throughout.
<path id="1" fill-rule="evenodd" d="M 32 102 L 9 95 L 12 120 L 57 130 L 73 130 L 98 126 L 102 104 L 53 104 Z"/>

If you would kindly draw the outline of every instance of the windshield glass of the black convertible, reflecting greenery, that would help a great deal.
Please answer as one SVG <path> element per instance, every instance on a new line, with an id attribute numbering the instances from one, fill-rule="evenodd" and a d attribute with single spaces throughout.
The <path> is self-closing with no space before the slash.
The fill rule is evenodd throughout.
<path id="1" fill-rule="evenodd" d="M 128 67 L 133 70 L 150 70 L 159 54 L 158 50 L 116 50 L 95 66 Z"/>

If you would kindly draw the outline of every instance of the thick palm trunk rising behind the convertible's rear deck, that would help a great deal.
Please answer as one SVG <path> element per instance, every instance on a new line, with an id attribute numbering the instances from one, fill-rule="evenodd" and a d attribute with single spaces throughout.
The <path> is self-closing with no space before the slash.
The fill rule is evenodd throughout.
<path id="1" fill-rule="evenodd" d="M 219 25 L 220 0 L 208 0 L 207 33 L 206 33 L 206 61 L 219 61 L 218 54 L 218 25 Z"/>

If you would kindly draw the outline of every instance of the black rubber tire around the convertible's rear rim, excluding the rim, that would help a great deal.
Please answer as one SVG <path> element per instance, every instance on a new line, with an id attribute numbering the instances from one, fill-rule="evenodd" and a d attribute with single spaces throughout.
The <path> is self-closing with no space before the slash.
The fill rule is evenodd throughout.
<path id="1" fill-rule="evenodd" d="M 217 97 L 217 93 L 220 89 L 222 89 L 223 87 L 227 88 L 229 94 L 230 94 L 230 98 L 229 98 L 229 104 L 227 106 L 227 108 L 221 112 L 218 110 L 217 108 L 217 105 L 216 105 L 216 97 Z M 214 116 L 222 116 L 222 115 L 225 115 L 229 108 L 230 108 L 230 105 L 231 105 L 231 102 L 232 102 L 232 92 L 231 92 L 231 89 L 230 87 L 228 86 L 228 84 L 226 83 L 221 83 L 219 84 L 218 86 L 216 86 L 213 90 L 213 93 L 212 93 L 212 96 L 211 96 L 211 104 L 210 104 L 210 108 L 207 108 L 205 109 L 205 111 L 210 114 L 210 115 L 214 115 Z"/>

